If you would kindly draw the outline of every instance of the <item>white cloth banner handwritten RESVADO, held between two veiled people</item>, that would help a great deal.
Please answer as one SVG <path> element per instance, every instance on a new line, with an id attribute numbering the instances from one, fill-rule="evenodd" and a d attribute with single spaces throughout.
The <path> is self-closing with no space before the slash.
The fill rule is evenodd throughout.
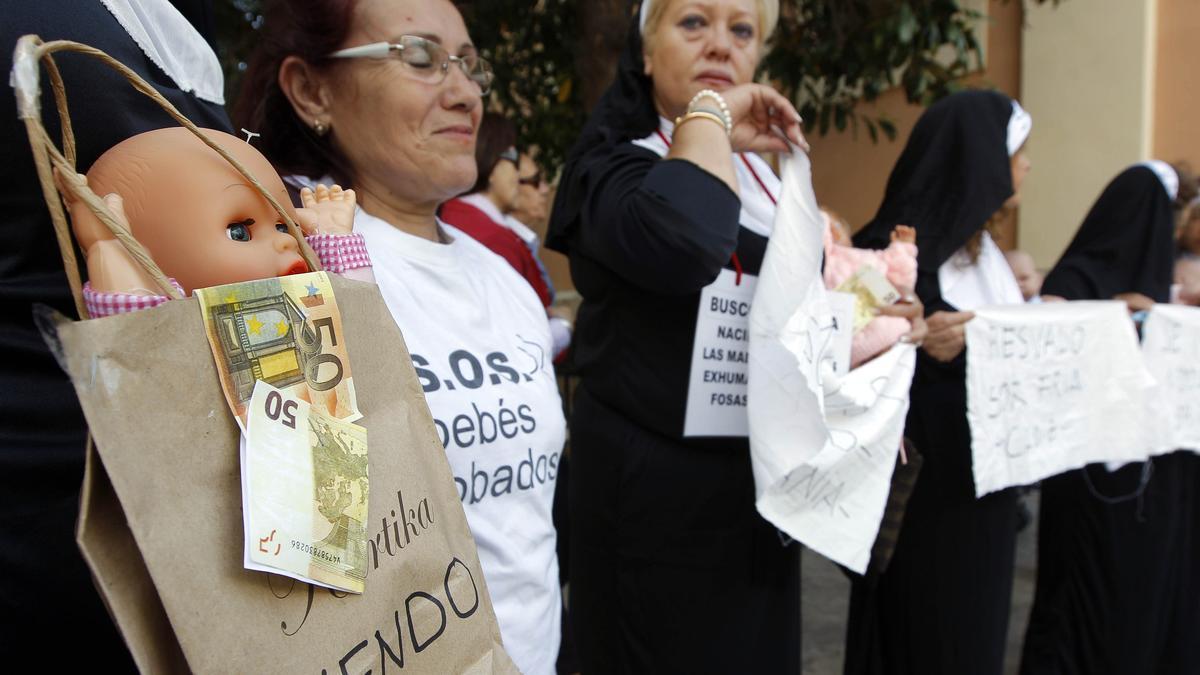
<path id="1" fill-rule="evenodd" d="M 966 341 L 977 496 L 1166 449 L 1124 303 L 984 307 Z"/>

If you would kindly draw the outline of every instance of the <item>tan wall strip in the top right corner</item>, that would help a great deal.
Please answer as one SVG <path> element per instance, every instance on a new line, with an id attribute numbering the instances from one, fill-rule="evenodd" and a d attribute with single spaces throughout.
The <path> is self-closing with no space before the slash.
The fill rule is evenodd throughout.
<path id="1" fill-rule="evenodd" d="M 1158 0 L 1154 156 L 1200 168 L 1200 1 Z"/>

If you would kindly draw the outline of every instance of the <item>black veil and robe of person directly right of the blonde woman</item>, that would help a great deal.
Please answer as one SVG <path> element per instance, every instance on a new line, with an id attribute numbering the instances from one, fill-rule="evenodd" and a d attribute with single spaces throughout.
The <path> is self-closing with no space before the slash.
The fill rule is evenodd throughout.
<path id="1" fill-rule="evenodd" d="M 952 95 L 918 120 L 878 214 L 856 237 L 881 249 L 896 225 L 917 229 L 917 293 L 926 313 L 956 311 L 937 270 L 1013 193 L 1007 150 L 1012 101 Z M 918 351 L 905 436 L 922 453 L 887 571 L 854 578 L 847 675 L 1000 675 L 1016 543 L 1013 490 L 974 496 L 966 419 L 966 354 L 940 363 Z"/>

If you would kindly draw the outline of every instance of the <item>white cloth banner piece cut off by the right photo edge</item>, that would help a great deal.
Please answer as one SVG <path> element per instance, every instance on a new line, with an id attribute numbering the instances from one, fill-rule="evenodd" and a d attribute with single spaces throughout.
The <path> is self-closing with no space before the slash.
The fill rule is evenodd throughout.
<path id="1" fill-rule="evenodd" d="M 1169 449 L 1200 452 L 1200 307 L 1154 305 L 1141 329 L 1146 368 L 1162 396 L 1150 406 Z"/>

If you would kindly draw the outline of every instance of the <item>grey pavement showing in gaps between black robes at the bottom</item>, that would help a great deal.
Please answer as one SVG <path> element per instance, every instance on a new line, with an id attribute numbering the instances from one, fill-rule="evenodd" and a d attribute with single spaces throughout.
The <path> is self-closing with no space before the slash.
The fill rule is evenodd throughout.
<path id="1" fill-rule="evenodd" d="M 1025 497 L 1033 522 L 1016 537 L 1013 609 L 1008 620 L 1004 673 L 1015 675 L 1037 580 L 1038 495 Z M 850 581 L 832 562 L 808 549 L 800 556 L 802 655 L 805 675 L 840 675 L 845 657 Z"/>

